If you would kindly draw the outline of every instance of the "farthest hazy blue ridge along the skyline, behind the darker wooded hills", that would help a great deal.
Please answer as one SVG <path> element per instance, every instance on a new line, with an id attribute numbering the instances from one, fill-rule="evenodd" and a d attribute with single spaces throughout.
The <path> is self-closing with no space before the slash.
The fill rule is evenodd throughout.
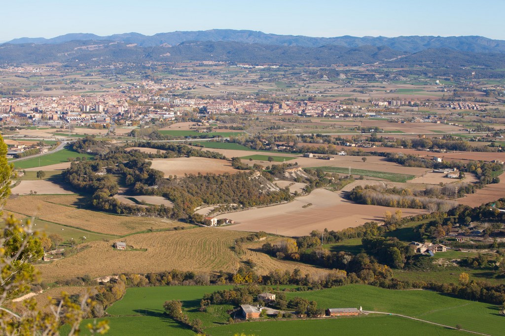
<path id="1" fill-rule="evenodd" d="M 505 53 L 505 41 L 492 40 L 481 36 L 398 36 L 398 37 L 309 37 L 294 35 L 266 34 L 251 30 L 212 29 L 206 31 L 176 31 L 146 36 L 139 33 L 124 33 L 110 36 L 94 34 L 66 34 L 50 39 L 18 38 L 7 43 L 11 44 L 59 44 L 74 40 L 116 41 L 126 44 L 137 44 L 143 47 L 156 47 L 163 44 L 178 45 L 186 41 L 241 42 L 267 45 L 321 47 L 335 45 L 347 48 L 361 46 L 388 47 L 404 53 L 415 53 L 430 48 L 446 48 L 450 50 L 479 53 Z"/>

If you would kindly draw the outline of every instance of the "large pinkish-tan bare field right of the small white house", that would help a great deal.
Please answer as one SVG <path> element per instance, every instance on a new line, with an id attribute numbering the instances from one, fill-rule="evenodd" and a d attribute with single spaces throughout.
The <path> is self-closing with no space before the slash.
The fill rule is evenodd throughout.
<path id="1" fill-rule="evenodd" d="M 308 206 L 302 208 L 303 206 Z M 381 221 L 386 211 L 397 208 L 354 204 L 342 197 L 342 192 L 316 189 L 310 195 L 297 197 L 288 204 L 251 209 L 217 216 L 235 221 L 226 230 L 265 231 L 284 236 L 308 235 L 313 230 L 342 230 Z M 401 209 L 404 216 L 426 213 L 419 209 Z"/>

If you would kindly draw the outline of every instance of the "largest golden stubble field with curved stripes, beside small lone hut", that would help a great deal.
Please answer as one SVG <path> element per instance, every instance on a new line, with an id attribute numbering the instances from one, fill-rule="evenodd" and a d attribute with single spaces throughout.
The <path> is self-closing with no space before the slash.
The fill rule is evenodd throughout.
<path id="1" fill-rule="evenodd" d="M 95 278 L 125 272 L 162 272 L 173 268 L 180 271 L 234 272 L 238 269 L 241 259 L 230 246 L 236 238 L 244 235 L 215 228 L 137 234 L 122 240 L 126 241 L 127 245 L 138 249 L 145 248 L 146 251 L 120 251 L 112 248 L 112 242 L 95 241 L 87 243 L 89 248 L 76 255 L 50 264 L 37 265 L 37 268 L 42 273 L 42 278 L 47 281 L 85 274 Z M 264 242 L 265 240 L 261 243 Z M 271 259 L 264 253 L 246 253 L 254 253 L 260 274 L 277 268 L 292 270 L 295 267 L 291 262 Z M 242 259 L 246 258 L 247 254 L 242 256 Z M 305 273 L 318 270 L 304 264 L 296 266 Z"/>

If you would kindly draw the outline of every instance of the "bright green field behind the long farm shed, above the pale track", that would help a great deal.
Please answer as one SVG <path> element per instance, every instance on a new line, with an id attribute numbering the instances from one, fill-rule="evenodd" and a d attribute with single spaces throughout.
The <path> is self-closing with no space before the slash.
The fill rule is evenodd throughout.
<path id="1" fill-rule="evenodd" d="M 492 335 L 503 334 L 503 319 L 495 305 L 453 298 L 430 291 L 398 291 L 366 285 L 348 285 L 308 292 L 287 293 L 315 300 L 320 308 L 363 307 L 421 318 Z"/>

